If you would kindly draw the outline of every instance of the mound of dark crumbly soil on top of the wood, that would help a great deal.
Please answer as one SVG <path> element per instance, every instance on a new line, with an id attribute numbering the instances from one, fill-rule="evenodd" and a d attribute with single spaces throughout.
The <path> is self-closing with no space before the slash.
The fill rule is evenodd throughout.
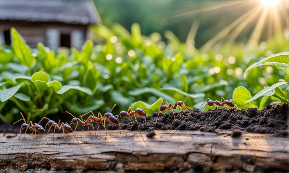
<path id="1" fill-rule="evenodd" d="M 202 113 L 199 110 L 190 110 L 184 111 L 183 114 L 180 111 L 175 112 L 176 121 L 174 121 L 173 113 L 160 114 L 157 123 L 158 112 L 155 112 L 147 116 L 147 121 L 142 116 L 137 116 L 137 120 L 140 130 L 147 131 L 179 129 L 215 132 L 215 129 L 238 129 L 242 132 L 270 133 L 280 137 L 288 135 L 288 104 L 277 105 L 275 108 L 268 104 L 263 110 L 231 108 L 230 111 L 232 114 L 226 108 L 215 109 L 210 118 L 211 111 Z M 127 130 L 139 130 L 136 121 L 131 121 L 127 125 Z M 238 132 L 238 135 L 241 134 Z"/>

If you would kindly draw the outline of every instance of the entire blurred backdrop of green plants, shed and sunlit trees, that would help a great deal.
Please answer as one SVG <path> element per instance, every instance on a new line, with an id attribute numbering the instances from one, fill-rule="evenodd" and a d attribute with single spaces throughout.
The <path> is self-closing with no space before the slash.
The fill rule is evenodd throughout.
<path id="1" fill-rule="evenodd" d="M 288 51 L 285 0 L 1 0 L 0 7 L 4 122 L 20 111 L 32 120 L 69 119 L 66 110 L 104 114 L 113 104 L 118 114 L 138 100 L 151 113 L 160 97 L 173 103 L 190 93 L 186 105 L 197 109 L 206 98 L 231 99 L 238 86 L 253 96 L 288 80 L 271 66 L 244 75 Z M 240 108 L 276 102 L 260 97 Z"/>

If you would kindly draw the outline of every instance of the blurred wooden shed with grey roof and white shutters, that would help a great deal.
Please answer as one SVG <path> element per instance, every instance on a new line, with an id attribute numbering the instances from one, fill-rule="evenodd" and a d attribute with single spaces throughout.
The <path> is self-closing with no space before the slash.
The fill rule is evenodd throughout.
<path id="1" fill-rule="evenodd" d="M 100 21 L 92 0 L 0 0 L 0 44 L 10 45 L 15 27 L 32 48 L 42 42 L 52 50 L 81 49 L 88 25 Z"/>

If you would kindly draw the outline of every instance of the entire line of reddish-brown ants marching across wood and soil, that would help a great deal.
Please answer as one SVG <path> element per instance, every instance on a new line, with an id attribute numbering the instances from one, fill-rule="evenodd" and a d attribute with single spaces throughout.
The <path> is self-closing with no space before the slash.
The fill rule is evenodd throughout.
<path id="1" fill-rule="evenodd" d="M 164 112 L 164 114 L 165 114 L 168 110 L 172 110 L 172 111 L 173 111 L 174 109 L 177 108 L 177 106 L 179 107 L 179 109 L 182 108 L 182 114 L 183 114 L 183 112 L 184 112 L 183 107 L 185 107 L 186 110 L 189 111 L 189 109 L 186 107 L 186 105 L 184 104 L 184 102 L 186 102 L 185 100 L 186 100 L 188 97 L 190 97 L 191 95 L 192 95 L 192 94 L 188 95 L 183 101 L 178 101 L 178 102 L 175 101 L 175 105 L 173 105 L 173 104 L 168 104 L 167 101 L 163 104 L 163 101 L 162 101 L 162 105 L 160 106 L 160 109 L 159 109 L 159 112 L 158 112 L 158 116 L 159 116 L 159 114 L 160 114 L 160 111 L 166 110 L 166 111 Z M 238 95 L 238 96 L 239 96 L 239 95 Z M 238 97 L 238 96 L 236 96 L 236 97 Z M 206 104 L 205 107 L 203 108 L 202 112 L 205 110 L 205 108 L 206 108 L 207 105 L 213 106 L 212 111 L 213 111 L 213 109 L 214 109 L 214 106 L 216 105 L 217 107 L 218 107 L 218 106 L 225 106 L 225 107 L 227 108 L 227 110 L 232 114 L 232 112 L 229 110 L 228 106 L 230 106 L 230 107 L 236 107 L 236 108 L 238 109 L 238 106 L 233 102 L 233 100 L 234 100 L 236 97 L 234 97 L 232 100 L 225 100 L 225 99 L 222 97 L 222 98 L 221 98 L 221 101 L 218 101 L 218 100 L 213 101 L 213 100 L 211 100 L 211 99 L 208 98 L 206 101 L 204 101 L 204 103 L 207 102 L 207 104 Z M 222 102 L 223 99 L 224 99 L 224 101 Z M 203 103 L 203 104 L 204 104 L 204 103 Z M 200 108 L 203 106 L 203 104 L 200 106 Z M 97 138 L 96 131 L 95 131 L 94 126 L 93 126 L 93 123 L 92 123 L 93 121 L 94 121 L 95 123 L 101 123 L 101 124 L 103 125 L 103 127 L 105 128 L 106 135 L 107 135 L 107 130 L 106 130 L 106 127 L 105 127 L 105 120 L 109 121 L 110 123 L 113 123 L 113 124 L 118 125 L 118 126 L 119 126 L 119 131 L 120 131 L 120 134 L 121 134 L 120 122 L 119 122 L 119 120 L 118 120 L 118 117 L 119 117 L 119 116 L 122 117 L 122 118 L 124 118 L 124 117 L 128 117 L 128 118 L 129 118 L 129 117 L 131 117 L 131 119 L 133 120 L 132 116 L 134 116 L 134 118 L 136 119 L 135 114 L 138 114 L 139 116 L 145 116 L 145 117 L 147 118 L 147 113 L 146 113 L 143 109 L 141 109 L 141 108 L 136 108 L 136 110 L 133 111 L 132 108 L 129 107 L 129 109 L 128 109 L 127 111 L 121 111 L 118 115 L 114 115 L 114 114 L 112 114 L 111 112 L 112 112 L 112 110 L 113 110 L 113 108 L 114 108 L 115 106 L 116 106 L 116 105 L 114 104 L 114 106 L 112 107 L 112 109 L 110 110 L 110 112 L 105 113 L 103 116 L 101 115 L 100 112 L 97 114 L 97 116 L 95 116 L 92 111 L 89 111 L 89 112 L 81 115 L 81 116 L 80 116 L 80 119 L 77 118 L 77 117 L 75 117 L 73 114 L 71 114 L 71 113 L 69 113 L 69 112 L 66 111 L 66 113 L 68 113 L 68 114 L 70 114 L 71 116 L 73 116 L 73 119 L 71 120 L 71 123 L 70 123 L 70 124 L 64 123 L 64 122 L 60 123 L 60 120 L 58 121 L 58 123 L 56 123 L 55 121 L 50 120 L 50 119 L 47 118 L 47 117 L 43 117 L 38 123 L 34 123 L 34 124 L 33 124 L 32 121 L 29 121 L 29 123 L 27 124 L 26 121 L 25 121 L 25 118 L 24 118 L 24 116 L 23 116 L 23 114 L 22 114 L 22 112 L 20 112 L 20 114 L 21 114 L 21 116 L 22 116 L 23 118 L 20 119 L 20 120 L 18 120 L 18 121 L 16 121 L 15 123 L 18 123 L 18 122 L 21 121 L 21 120 L 24 121 L 24 123 L 21 125 L 21 128 L 20 128 L 19 138 L 20 138 L 20 136 L 21 136 L 21 130 L 22 130 L 22 129 L 25 130 L 24 138 L 25 138 L 25 134 L 26 134 L 26 132 L 27 132 L 28 129 L 29 129 L 29 130 L 32 130 L 32 133 L 31 133 L 31 134 L 35 133 L 35 136 L 36 136 L 36 131 L 37 131 L 38 133 L 40 133 L 40 134 L 44 134 L 44 136 L 45 136 L 45 128 L 48 126 L 49 129 L 48 129 L 47 133 L 49 133 L 49 131 L 51 130 L 51 128 L 54 127 L 53 138 L 54 138 L 55 130 L 57 129 L 58 131 L 60 131 L 60 130 L 62 129 L 62 131 L 63 131 L 63 136 L 64 136 L 64 140 L 65 140 L 64 131 L 66 131 L 66 132 L 68 132 L 68 133 L 72 133 L 73 137 L 76 139 L 76 137 L 75 137 L 74 134 L 73 134 L 73 131 L 76 130 L 78 124 L 80 124 L 80 125 L 82 126 L 81 139 L 82 139 L 82 133 L 83 133 L 84 126 L 86 126 L 86 125 L 88 126 L 88 130 L 89 130 L 89 126 L 92 127 L 93 131 L 95 132 L 95 137 Z M 199 109 L 200 109 L 200 108 L 199 108 Z M 199 109 L 197 109 L 197 110 L 199 110 Z M 129 112 L 129 111 L 130 111 L 130 112 Z M 210 117 L 211 117 L 211 115 L 212 115 L 212 111 L 211 111 Z M 91 113 L 91 114 L 88 116 L 88 118 L 87 118 L 86 120 L 83 120 L 82 117 L 85 116 L 85 115 L 87 115 L 87 114 L 89 114 L 89 113 Z M 173 111 L 173 115 L 174 115 L 174 120 L 176 121 L 174 111 Z M 158 116 L 157 116 L 157 119 L 156 119 L 156 123 L 158 122 Z M 210 118 L 210 117 L 209 117 L 209 118 Z M 40 125 L 40 123 L 41 123 L 44 119 L 47 119 L 48 122 L 46 123 L 45 127 L 43 128 L 43 127 Z M 102 123 L 102 121 L 103 121 L 103 123 Z M 13 124 L 15 124 L 15 123 L 13 123 Z M 136 119 L 136 123 L 137 123 L 137 125 L 138 125 L 137 119 Z M 74 130 L 73 130 L 72 127 L 71 127 L 72 124 L 76 124 Z M 139 125 L 138 125 L 138 127 L 139 127 Z M 99 128 L 99 126 L 98 126 L 98 128 Z M 97 128 L 97 130 L 98 130 L 98 128 Z M 90 130 L 89 130 L 89 131 L 90 131 Z M 140 133 L 140 136 L 141 136 L 141 133 Z M 37 138 L 37 136 L 36 136 L 36 138 Z M 52 138 L 52 139 L 53 139 L 53 138 Z M 46 136 L 45 136 L 45 140 L 46 140 Z M 76 140 L 77 140 L 77 139 L 76 139 Z M 78 141 L 78 140 L 77 140 L 77 141 Z"/>

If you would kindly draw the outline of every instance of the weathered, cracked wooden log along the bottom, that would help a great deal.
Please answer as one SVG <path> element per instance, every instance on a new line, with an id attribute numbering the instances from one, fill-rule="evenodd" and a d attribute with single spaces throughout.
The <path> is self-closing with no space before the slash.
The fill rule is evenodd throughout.
<path id="1" fill-rule="evenodd" d="M 243 133 L 231 138 L 230 131 L 105 131 L 75 132 L 77 140 L 66 133 L 44 136 L 27 134 L 20 140 L 0 133 L 0 168 L 16 169 L 98 169 L 98 170 L 245 170 L 289 171 L 289 139 L 269 134 Z"/>

